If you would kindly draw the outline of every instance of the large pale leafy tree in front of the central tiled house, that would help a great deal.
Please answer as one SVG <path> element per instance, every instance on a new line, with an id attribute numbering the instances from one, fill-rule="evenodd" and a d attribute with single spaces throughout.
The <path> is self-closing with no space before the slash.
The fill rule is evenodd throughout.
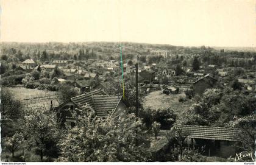
<path id="1" fill-rule="evenodd" d="M 143 143 L 143 125 L 134 114 L 102 120 L 95 118 L 92 110 L 79 113 L 76 127 L 59 144 L 62 153 L 59 161 L 149 160 Z"/>

